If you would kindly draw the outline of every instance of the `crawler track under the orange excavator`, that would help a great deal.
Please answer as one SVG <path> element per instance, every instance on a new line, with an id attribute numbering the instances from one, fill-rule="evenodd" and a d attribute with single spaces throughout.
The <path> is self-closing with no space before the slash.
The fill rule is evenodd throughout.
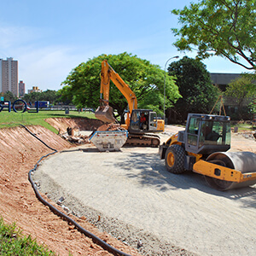
<path id="1" fill-rule="evenodd" d="M 125 145 L 157 148 L 160 145 L 160 137 L 154 134 L 129 133 Z"/>

